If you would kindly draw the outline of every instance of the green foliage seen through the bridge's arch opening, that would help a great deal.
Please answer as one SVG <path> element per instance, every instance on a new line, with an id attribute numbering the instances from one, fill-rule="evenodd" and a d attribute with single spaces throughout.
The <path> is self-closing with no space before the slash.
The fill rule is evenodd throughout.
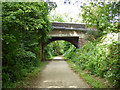
<path id="1" fill-rule="evenodd" d="M 67 50 L 69 52 L 73 50 L 74 45 L 72 45 L 70 42 L 67 41 L 54 41 L 50 44 L 48 44 L 45 47 L 45 57 L 46 58 L 51 58 L 53 56 L 59 56 L 63 55 Z"/>

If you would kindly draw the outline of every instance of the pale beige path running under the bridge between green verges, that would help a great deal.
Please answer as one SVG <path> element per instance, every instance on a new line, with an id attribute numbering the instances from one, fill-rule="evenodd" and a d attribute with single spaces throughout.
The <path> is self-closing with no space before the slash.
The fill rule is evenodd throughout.
<path id="1" fill-rule="evenodd" d="M 63 59 L 62 56 L 54 59 Z M 89 88 L 83 79 L 74 73 L 67 62 L 51 61 L 41 71 L 32 88 Z"/>

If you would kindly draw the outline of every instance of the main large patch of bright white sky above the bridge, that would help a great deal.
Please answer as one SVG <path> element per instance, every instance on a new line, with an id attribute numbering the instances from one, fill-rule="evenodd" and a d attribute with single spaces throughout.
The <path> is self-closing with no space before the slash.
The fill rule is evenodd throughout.
<path id="1" fill-rule="evenodd" d="M 81 3 L 75 3 L 76 0 L 70 0 L 71 4 L 64 4 L 65 0 L 51 0 L 56 2 L 57 8 L 55 11 L 51 12 L 51 14 L 61 14 L 64 15 L 65 13 L 68 14 L 69 17 L 74 18 L 76 20 L 78 18 L 78 14 L 80 13 L 81 8 L 77 6 L 77 4 L 80 6 Z M 86 0 L 80 0 L 81 2 L 85 2 Z"/>

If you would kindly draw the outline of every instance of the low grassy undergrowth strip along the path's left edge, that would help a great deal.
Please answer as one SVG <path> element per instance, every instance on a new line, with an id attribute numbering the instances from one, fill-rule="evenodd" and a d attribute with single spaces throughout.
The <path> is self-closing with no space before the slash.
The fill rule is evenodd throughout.
<path id="1" fill-rule="evenodd" d="M 4 83 L 3 88 L 26 88 L 27 85 L 30 85 L 31 79 L 36 77 L 38 73 L 45 67 L 46 64 L 48 64 L 48 62 L 40 62 L 36 67 L 32 67 L 31 70 L 26 70 L 26 72 L 23 72 L 24 76 L 21 76 L 20 80 L 14 82 L 9 81 L 8 83 Z"/>

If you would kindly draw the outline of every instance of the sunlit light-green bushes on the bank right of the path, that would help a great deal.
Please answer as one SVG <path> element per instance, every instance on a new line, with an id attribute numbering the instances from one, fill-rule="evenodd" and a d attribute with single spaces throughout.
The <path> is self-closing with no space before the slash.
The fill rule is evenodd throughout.
<path id="1" fill-rule="evenodd" d="M 114 87 L 119 87 L 120 61 L 118 55 L 120 51 L 118 41 L 113 40 L 112 44 L 100 44 L 99 41 L 88 42 L 75 52 L 66 52 L 65 57 L 79 65 L 80 69 L 88 70 L 89 74 L 103 77 L 112 83 Z"/>

